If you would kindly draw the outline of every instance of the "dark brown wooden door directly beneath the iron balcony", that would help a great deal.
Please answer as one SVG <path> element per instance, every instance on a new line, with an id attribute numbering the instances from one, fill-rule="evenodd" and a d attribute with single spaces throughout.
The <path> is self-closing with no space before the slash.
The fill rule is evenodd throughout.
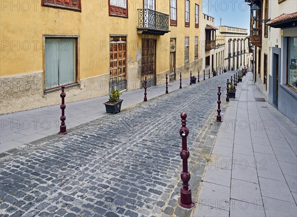
<path id="1" fill-rule="evenodd" d="M 155 85 L 155 40 L 142 40 L 141 61 L 142 87 L 145 85 L 145 76 L 148 79 L 148 87 Z"/>

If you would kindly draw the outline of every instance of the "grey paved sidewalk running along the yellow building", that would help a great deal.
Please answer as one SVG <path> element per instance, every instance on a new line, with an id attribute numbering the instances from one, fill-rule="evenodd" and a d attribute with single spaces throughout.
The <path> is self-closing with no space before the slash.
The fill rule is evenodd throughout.
<path id="1" fill-rule="evenodd" d="M 193 72 L 194 75 L 198 77 L 198 72 Z M 212 77 L 212 74 L 210 77 Z M 207 79 L 208 74 L 205 75 L 205 80 Z M 201 75 L 200 72 L 200 81 L 202 80 L 203 74 Z M 168 91 L 178 90 L 179 83 L 179 80 L 169 83 Z M 182 81 L 182 87 L 186 87 L 189 84 L 190 79 L 184 79 Z M 108 100 L 108 96 L 67 103 L 67 89 L 65 92 L 65 122 L 67 129 L 106 116 L 103 103 Z M 164 83 L 150 87 L 148 88 L 148 101 L 163 94 L 165 94 Z M 57 92 L 57 98 L 60 98 L 60 92 Z M 129 109 L 143 102 L 144 89 L 123 92 L 121 99 L 124 100 L 122 111 Z M 0 115 L 0 153 L 56 134 L 59 131 L 60 116 L 61 109 L 59 105 Z"/>

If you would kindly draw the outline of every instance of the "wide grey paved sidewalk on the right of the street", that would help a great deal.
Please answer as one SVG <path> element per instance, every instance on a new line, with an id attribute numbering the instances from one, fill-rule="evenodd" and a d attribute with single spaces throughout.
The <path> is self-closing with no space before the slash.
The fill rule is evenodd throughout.
<path id="1" fill-rule="evenodd" d="M 248 88 L 223 117 L 193 217 L 296 217 L 297 127 L 256 102 L 252 74 L 244 78 Z"/>

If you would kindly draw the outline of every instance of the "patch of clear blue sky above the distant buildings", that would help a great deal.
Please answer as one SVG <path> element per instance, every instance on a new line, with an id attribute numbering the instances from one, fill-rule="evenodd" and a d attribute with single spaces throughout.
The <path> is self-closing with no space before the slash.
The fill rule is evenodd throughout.
<path id="1" fill-rule="evenodd" d="M 244 28 L 249 32 L 250 7 L 245 0 L 201 0 L 200 4 L 203 13 L 215 18 L 216 26 L 220 25 L 221 17 L 222 26 Z"/>

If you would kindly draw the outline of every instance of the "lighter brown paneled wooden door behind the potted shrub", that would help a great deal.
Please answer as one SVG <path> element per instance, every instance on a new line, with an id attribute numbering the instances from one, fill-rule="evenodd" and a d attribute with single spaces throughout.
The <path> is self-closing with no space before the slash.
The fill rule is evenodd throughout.
<path id="1" fill-rule="evenodd" d="M 109 45 L 109 92 L 125 90 L 126 76 L 126 37 L 111 37 Z"/>

